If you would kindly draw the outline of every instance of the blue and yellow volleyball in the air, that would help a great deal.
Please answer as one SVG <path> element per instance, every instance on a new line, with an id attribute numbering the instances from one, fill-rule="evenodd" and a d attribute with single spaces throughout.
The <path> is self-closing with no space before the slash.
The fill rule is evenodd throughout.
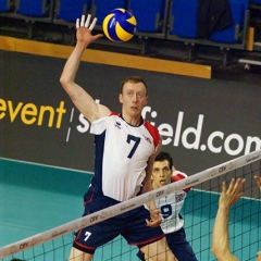
<path id="1" fill-rule="evenodd" d="M 102 22 L 102 29 L 111 41 L 127 41 L 135 33 L 135 16 L 125 9 L 112 10 Z"/>

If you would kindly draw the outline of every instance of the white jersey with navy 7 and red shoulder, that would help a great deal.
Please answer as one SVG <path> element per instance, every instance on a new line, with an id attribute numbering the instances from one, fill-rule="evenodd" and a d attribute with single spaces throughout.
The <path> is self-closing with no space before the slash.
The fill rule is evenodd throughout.
<path id="1" fill-rule="evenodd" d="M 160 140 L 159 130 L 146 120 L 139 126 L 112 113 L 92 122 L 95 134 L 95 177 L 90 189 L 123 201 L 141 189 L 149 157 Z"/>

